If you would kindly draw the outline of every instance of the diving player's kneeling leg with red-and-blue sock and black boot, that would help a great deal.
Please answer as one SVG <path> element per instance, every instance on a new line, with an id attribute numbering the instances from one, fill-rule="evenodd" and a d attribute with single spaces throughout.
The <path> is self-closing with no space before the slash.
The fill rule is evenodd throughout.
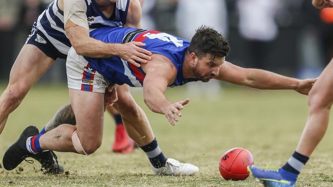
<path id="1" fill-rule="evenodd" d="M 77 125 L 63 124 L 43 135 L 38 133 L 36 127 L 29 126 L 6 151 L 3 158 L 5 169 L 16 168 L 27 157 L 41 159 L 45 150 L 80 152 L 74 147 L 73 142 L 76 146 L 79 142 L 87 154 L 92 154 L 98 149 L 102 139 L 104 94 L 74 89 L 70 89 L 69 93 Z M 73 138 L 74 132 L 77 136 Z M 58 163 L 56 166 L 59 166 Z"/>

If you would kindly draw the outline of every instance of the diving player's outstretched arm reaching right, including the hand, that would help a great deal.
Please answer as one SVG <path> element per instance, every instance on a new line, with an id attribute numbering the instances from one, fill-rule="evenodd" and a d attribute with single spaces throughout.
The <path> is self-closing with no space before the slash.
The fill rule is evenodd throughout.
<path id="1" fill-rule="evenodd" d="M 262 69 L 242 68 L 230 62 L 221 65 L 217 79 L 258 89 L 294 89 L 307 95 L 317 79 L 295 79 Z"/>

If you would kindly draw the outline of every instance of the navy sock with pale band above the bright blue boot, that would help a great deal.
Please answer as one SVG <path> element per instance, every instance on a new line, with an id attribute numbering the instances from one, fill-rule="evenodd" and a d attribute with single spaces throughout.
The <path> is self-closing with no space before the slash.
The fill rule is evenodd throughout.
<path id="1" fill-rule="evenodd" d="M 309 157 L 295 151 L 293 156 L 288 159 L 288 162 L 282 167 L 282 169 L 298 175 L 308 159 Z"/>

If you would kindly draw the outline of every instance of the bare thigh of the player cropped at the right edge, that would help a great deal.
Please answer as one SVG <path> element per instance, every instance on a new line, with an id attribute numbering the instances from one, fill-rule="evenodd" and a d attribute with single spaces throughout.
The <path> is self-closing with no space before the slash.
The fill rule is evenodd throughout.
<path id="1" fill-rule="evenodd" d="M 319 79 L 309 92 L 310 105 L 317 102 L 320 105 L 331 106 L 333 102 L 333 59 L 325 67 Z"/>

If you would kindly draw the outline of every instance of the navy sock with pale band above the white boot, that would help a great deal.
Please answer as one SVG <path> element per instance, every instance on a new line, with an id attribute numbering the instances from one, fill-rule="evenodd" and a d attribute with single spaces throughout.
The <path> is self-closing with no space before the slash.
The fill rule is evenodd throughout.
<path id="1" fill-rule="evenodd" d="M 160 148 L 158 147 L 156 138 L 148 145 L 140 147 L 147 154 L 149 161 L 154 168 L 162 168 L 165 166 L 166 159 Z"/>

